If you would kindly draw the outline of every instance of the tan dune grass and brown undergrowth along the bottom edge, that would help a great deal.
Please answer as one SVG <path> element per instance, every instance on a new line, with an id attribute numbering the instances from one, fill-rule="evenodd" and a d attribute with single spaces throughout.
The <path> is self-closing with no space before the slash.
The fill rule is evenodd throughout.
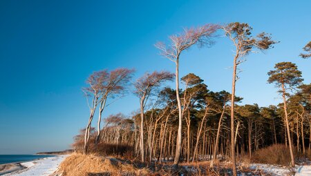
<path id="1" fill-rule="evenodd" d="M 232 175 L 232 163 L 228 161 L 216 161 L 213 167 L 210 167 L 209 161 L 202 162 L 182 162 L 178 169 L 173 168 L 172 162 L 162 164 L 154 163 L 142 164 L 133 159 L 120 159 L 122 157 L 101 157 L 96 154 L 83 155 L 73 153 L 66 157 L 60 164 L 58 174 L 62 176 L 103 176 L 103 175 Z M 124 158 L 124 157 L 123 157 Z M 246 161 L 247 163 L 249 161 Z M 267 175 L 261 170 L 250 170 L 246 165 L 238 167 L 238 173 L 245 175 Z"/>

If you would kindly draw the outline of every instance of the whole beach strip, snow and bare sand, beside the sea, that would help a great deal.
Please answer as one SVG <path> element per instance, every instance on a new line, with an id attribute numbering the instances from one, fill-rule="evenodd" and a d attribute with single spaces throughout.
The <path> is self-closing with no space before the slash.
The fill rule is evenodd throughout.
<path id="1" fill-rule="evenodd" d="M 17 162 L 0 165 L 0 175 L 6 176 L 27 176 L 27 175 L 52 175 L 57 170 L 59 164 L 67 155 L 57 155 L 36 159 L 30 162 Z"/>

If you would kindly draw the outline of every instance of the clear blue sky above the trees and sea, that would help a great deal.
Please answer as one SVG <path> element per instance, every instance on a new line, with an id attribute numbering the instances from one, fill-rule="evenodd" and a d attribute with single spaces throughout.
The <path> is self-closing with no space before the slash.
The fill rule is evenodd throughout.
<path id="1" fill-rule="evenodd" d="M 92 72 L 135 68 L 133 80 L 154 70 L 174 72 L 154 43 L 206 23 L 249 23 L 254 34 L 265 31 L 280 41 L 249 55 L 236 85 L 242 104 L 279 104 L 267 84 L 275 63 L 296 63 L 304 83 L 311 81 L 310 59 L 299 58 L 311 39 L 310 7 L 308 0 L 0 1 L 0 155 L 70 148 L 88 121 L 81 89 Z M 209 90 L 230 92 L 234 46 L 222 33 L 215 41 L 182 53 L 180 75 L 193 72 Z M 138 108 L 129 93 L 104 117 Z"/>

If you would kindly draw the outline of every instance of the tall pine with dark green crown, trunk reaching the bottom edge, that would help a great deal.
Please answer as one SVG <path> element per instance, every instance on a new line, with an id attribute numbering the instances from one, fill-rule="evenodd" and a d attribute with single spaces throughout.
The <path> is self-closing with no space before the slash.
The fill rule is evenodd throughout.
<path id="1" fill-rule="evenodd" d="M 271 37 L 265 32 L 252 36 L 252 28 L 247 23 L 229 23 L 223 27 L 225 35 L 229 37 L 235 46 L 235 55 L 233 63 L 232 75 L 232 95 L 231 95 L 231 155 L 233 164 L 233 174 L 236 175 L 236 155 L 234 145 L 234 96 L 236 92 L 237 67 L 245 61 L 245 56 L 254 49 L 267 50 L 272 48 L 276 41 L 272 41 Z"/>

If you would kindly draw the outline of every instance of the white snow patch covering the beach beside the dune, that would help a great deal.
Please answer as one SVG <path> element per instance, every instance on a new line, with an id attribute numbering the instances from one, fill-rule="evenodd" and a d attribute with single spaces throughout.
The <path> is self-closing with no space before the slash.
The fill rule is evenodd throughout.
<path id="1" fill-rule="evenodd" d="M 16 173 L 10 173 L 6 176 L 48 176 L 57 170 L 59 164 L 66 158 L 67 155 L 58 155 L 55 157 L 46 157 L 32 162 L 23 162 L 22 166 L 27 167 Z"/>

